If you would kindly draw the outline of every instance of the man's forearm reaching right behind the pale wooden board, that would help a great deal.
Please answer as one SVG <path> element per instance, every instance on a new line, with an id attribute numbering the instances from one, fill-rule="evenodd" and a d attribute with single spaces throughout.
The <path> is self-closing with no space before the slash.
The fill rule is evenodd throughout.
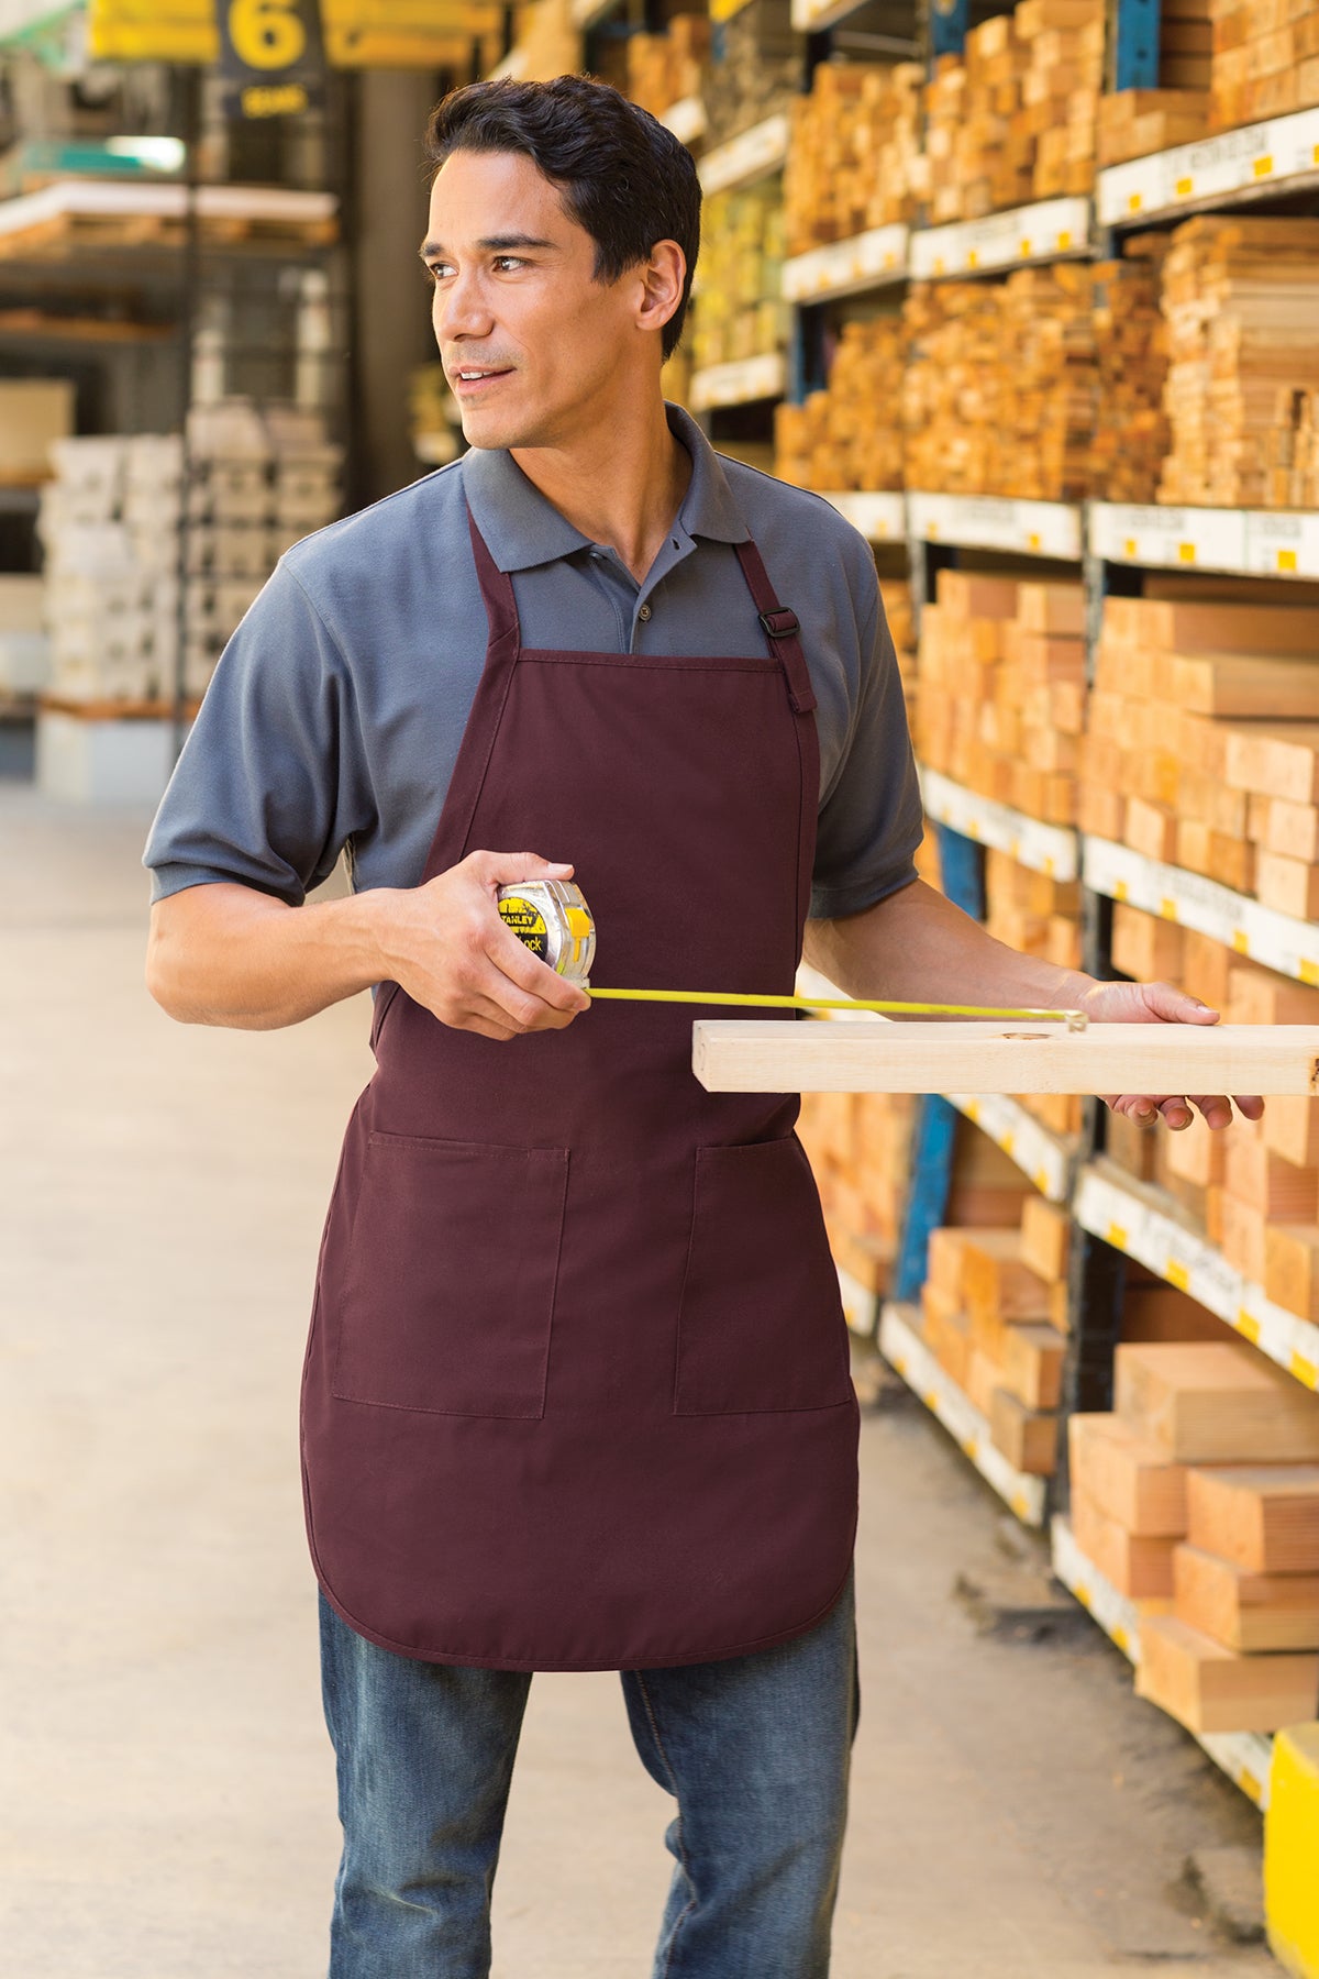
<path id="1" fill-rule="evenodd" d="M 923 881 L 842 920 L 809 920 L 805 960 L 846 995 L 904 1003 L 1070 1007 L 1094 986 L 1080 970 L 1022 956 Z"/>

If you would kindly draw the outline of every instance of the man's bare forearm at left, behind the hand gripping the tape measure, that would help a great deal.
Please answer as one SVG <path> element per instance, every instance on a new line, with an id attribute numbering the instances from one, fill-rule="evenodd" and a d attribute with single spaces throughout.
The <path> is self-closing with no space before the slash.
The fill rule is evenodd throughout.
<path id="1" fill-rule="evenodd" d="M 150 918 L 146 988 L 180 1023 L 273 1031 L 382 982 L 380 893 L 289 906 L 251 887 L 188 887 Z"/>

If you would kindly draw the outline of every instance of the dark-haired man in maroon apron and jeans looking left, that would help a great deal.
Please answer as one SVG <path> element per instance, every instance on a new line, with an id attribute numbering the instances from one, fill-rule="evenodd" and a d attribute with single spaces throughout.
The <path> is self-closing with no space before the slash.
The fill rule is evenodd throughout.
<path id="1" fill-rule="evenodd" d="M 678 1801 L 657 1973 L 817 1979 L 858 1417 L 797 1102 L 702 1092 L 690 1009 L 591 1007 L 496 889 L 575 873 L 597 986 L 785 991 L 805 934 L 858 995 L 1212 1013 L 1018 956 L 916 881 L 870 550 L 660 396 L 686 150 L 560 77 L 457 91 L 429 156 L 473 451 L 283 558 L 146 853 L 148 980 L 182 1021 L 380 986 L 303 1381 L 330 1973 L 488 1971 L 530 1672 L 617 1668 Z M 303 906 L 344 847 L 354 895 Z"/>

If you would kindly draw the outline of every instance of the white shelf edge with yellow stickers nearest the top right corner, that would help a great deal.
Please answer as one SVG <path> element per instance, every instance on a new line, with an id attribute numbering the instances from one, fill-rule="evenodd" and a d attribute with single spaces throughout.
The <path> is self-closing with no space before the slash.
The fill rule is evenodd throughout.
<path id="1" fill-rule="evenodd" d="M 1309 178 L 1317 168 L 1319 109 L 1297 111 L 1109 166 L 1096 178 L 1096 214 L 1101 226 L 1131 226 L 1202 200 L 1230 202 L 1262 186 L 1285 192 L 1287 180 Z"/>

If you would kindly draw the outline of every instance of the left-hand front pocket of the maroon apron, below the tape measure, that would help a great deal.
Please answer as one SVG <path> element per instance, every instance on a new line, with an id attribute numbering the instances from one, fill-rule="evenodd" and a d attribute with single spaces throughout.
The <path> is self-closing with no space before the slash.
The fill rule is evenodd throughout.
<path id="1" fill-rule="evenodd" d="M 372 1134 L 332 1393 L 544 1415 L 566 1193 L 566 1148 Z"/>

